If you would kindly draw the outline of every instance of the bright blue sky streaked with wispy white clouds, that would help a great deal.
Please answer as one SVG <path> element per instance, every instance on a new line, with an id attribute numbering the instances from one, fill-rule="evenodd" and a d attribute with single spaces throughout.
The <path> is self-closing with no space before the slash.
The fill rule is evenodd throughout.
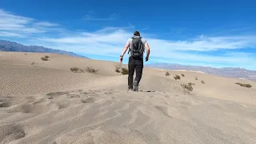
<path id="1" fill-rule="evenodd" d="M 151 49 L 146 63 L 256 70 L 255 6 L 253 0 L 1 0 L 0 39 L 118 62 L 139 30 Z"/>

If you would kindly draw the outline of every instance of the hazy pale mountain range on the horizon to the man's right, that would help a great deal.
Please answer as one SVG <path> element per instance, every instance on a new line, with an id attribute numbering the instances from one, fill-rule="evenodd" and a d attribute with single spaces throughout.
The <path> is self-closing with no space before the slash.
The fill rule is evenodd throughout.
<path id="1" fill-rule="evenodd" d="M 147 64 L 146 66 L 166 69 L 166 70 L 196 70 L 196 71 L 202 71 L 206 74 L 213 74 L 213 75 L 218 75 L 222 77 L 244 78 L 244 79 L 256 81 L 256 70 L 246 70 L 242 68 L 232 68 L 232 67 L 214 68 L 214 67 L 206 67 L 206 66 L 184 66 L 184 65 L 168 64 L 168 63 Z"/>

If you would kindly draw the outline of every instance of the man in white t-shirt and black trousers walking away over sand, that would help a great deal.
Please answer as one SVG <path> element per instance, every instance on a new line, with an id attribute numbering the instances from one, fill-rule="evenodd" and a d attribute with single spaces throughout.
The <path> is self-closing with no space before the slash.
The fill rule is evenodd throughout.
<path id="1" fill-rule="evenodd" d="M 120 62 L 122 62 L 123 55 L 126 54 L 126 50 L 129 48 L 128 54 L 128 90 L 138 91 L 138 84 L 142 78 L 143 70 L 143 53 L 146 48 L 146 62 L 150 56 L 150 46 L 146 42 L 145 38 L 142 38 L 138 31 L 134 31 L 134 36 L 129 38 L 126 42 L 126 46 L 122 50 L 120 55 Z M 136 70 L 136 77 L 134 79 L 134 70 Z"/>

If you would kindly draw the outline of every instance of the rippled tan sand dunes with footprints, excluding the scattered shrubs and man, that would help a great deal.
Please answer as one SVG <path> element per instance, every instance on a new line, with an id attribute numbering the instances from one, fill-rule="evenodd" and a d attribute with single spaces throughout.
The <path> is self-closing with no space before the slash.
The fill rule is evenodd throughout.
<path id="1" fill-rule="evenodd" d="M 127 92 L 127 75 L 114 72 L 126 65 L 43 55 L 0 52 L 2 143 L 256 143 L 255 82 L 145 67 L 143 91 Z"/>

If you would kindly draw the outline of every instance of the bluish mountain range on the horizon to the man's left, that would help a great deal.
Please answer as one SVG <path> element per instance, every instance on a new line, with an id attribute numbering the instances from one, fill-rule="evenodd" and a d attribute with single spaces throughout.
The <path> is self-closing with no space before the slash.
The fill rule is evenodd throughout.
<path id="1" fill-rule="evenodd" d="M 82 55 L 74 54 L 72 52 L 64 50 L 54 50 L 46 48 L 43 46 L 23 46 L 17 42 L 10 42 L 5 40 L 0 40 L 0 51 L 18 51 L 18 52 L 37 52 L 37 53 L 55 53 L 55 54 L 65 54 L 79 58 L 86 58 Z"/>

